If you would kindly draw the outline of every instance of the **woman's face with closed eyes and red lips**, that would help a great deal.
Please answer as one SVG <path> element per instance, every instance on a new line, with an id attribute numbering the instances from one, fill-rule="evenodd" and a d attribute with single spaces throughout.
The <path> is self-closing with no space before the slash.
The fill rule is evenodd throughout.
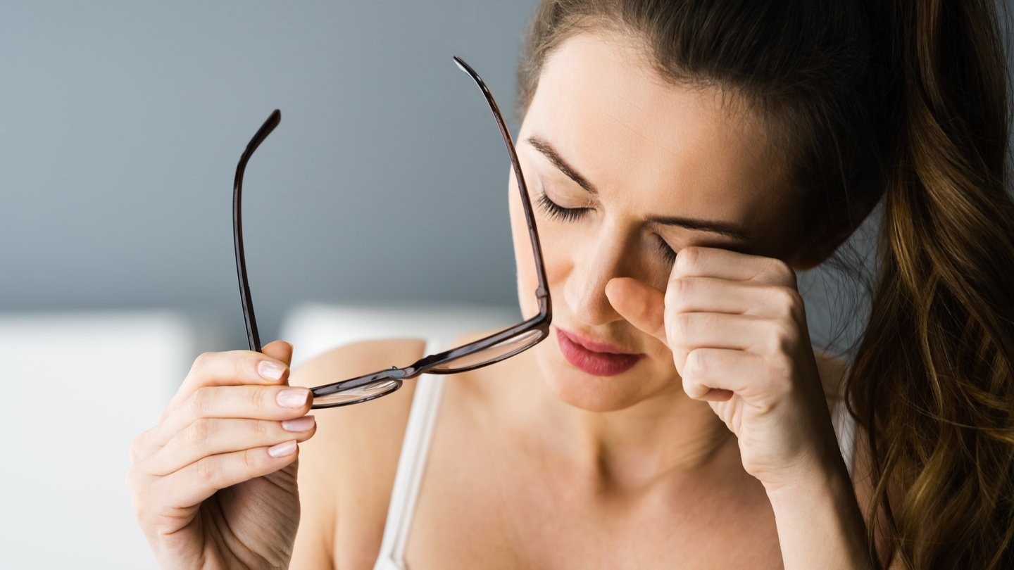
<path id="1" fill-rule="evenodd" d="M 681 391 L 666 346 L 609 304 L 610 279 L 664 290 L 687 245 L 789 257 L 795 193 L 736 102 L 664 81 L 614 34 L 576 35 L 547 60 L 517 151 L 554 310 L 551 338 L 533 351 L 564 402 L 610 411 Z M 513 179 L 510 196 L 521 303 L 532 314 L 536 280 Z"/>

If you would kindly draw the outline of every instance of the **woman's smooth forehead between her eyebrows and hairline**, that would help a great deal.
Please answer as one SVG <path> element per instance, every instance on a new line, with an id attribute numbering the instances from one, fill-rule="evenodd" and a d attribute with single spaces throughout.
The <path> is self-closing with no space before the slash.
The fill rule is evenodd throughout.
<path id="1" fill-rule="evenodd" d="M 551 54 L 520 138 L 532 135 L 605 192 L 637 189 L 684 215 L 763 218 L 790 194 L 784 160 L 743 105 L 716 87 L 665 81 L 617 34 L 581 33 Z"/>

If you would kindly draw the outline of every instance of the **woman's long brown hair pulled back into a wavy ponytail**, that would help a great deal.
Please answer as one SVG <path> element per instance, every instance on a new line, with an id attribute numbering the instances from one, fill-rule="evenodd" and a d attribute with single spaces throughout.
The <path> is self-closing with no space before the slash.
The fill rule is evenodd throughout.
<path id="1" fill-rule="evenodd" d="M 848 378 L 867 428 L 882 557 L 1014 567 L 1014 203 L 1008 84 L 992 0 L 544 0 L 518 68 L 604 29 L 659 73 L 732 93 L 805 190 L 800 260 L 830 256 L 878 203 L 872 313 Z"/>

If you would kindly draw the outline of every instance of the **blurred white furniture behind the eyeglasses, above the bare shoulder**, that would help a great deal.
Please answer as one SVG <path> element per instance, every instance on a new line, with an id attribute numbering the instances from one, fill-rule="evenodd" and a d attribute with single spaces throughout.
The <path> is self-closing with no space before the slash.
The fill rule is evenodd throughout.
<path id="1" fill-rule="evenodd" d="M 306 303 L 289 312 L 281 339 L 293 345 L 293 366 L 354 341 L 433 339 L 451 348 L 455 338 L 521 322 L 516 307 L 469 303 Z"/>

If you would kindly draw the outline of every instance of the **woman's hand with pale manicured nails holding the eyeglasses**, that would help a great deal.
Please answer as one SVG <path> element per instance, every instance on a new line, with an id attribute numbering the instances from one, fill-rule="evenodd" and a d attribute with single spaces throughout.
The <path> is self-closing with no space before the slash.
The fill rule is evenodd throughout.
<path id="1" fill-rule="evenodd" d="M 289 387 L 292 347 L 207 353 L 131 446 L 127 486 L 162 568 L 284 568 L 299 524 L 298 442 L 316 428 Z"/>

